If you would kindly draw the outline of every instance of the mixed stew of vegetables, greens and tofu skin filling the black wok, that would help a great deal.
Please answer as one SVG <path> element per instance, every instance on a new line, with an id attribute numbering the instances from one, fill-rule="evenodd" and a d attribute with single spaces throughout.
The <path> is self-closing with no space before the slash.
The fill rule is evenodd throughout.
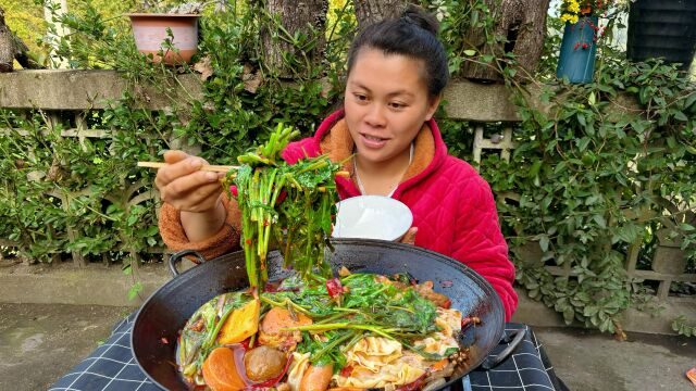
<path id="1" fill-rule="evenodd" d="M 476 319 L 408 275 L 295 275 L 221 294 L 189 318 L 177 364 L 191 386 L 219 390 L 420 390 L 467 364 L 459 333 Z"/>

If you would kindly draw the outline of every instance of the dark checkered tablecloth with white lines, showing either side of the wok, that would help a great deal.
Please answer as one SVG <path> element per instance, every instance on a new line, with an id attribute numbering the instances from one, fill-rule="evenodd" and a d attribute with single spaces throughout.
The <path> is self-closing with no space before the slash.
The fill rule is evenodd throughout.
<path id="1" fill-rule="evenodd" d="M 136 313 L 121 320 L 107 342 L 60 378 L 49 391 L 104 390 L 159 391 L 140 370 L 130 351 L 130 330 Z M 506 324 L 506 335 L 524 329 L 524 340 L 513 354 L 490 370 L 476 369 L 451 391 L 560 391 L 554 369 L 534 332 L 525 325 Z M 506 348 L 500 343 L 492 355 Z"/>

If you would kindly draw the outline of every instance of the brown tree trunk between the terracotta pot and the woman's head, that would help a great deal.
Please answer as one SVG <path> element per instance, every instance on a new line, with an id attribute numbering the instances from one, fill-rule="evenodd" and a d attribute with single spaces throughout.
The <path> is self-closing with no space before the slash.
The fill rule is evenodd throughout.
<path id="1" fill-rule="evenodd" d="M 265 52 L 265 65 L 276 71 L 281 77 L 296 77 L 308 71 L 304 60 L 315 63 L 324 54 L 326 38 L 324 26 L 328 0 L 268 0 L 265 10 L 270 15 L 278 15 L 283 28 L 274 22 L 269 22 L 262 29 L 261 37 Z M 283 30 L 287 31 L 287 34 Z M 299 34 L 298 34 L 299 33 Z M 289 36 L 288 36 L 289 35 Z M 309 40 L 315 39 L 313 45 L 303 40 L 303 47 L 294 45 L 293 37 L 304 35 Z M 294 64 L 284 61 L 284 53 L 298 60 Z"/>

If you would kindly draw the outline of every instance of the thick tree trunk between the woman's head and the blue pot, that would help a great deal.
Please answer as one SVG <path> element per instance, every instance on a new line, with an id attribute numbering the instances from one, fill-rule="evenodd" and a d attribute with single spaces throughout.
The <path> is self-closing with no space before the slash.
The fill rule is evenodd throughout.
<path id="1" fill-rule="evenodd" d="M 471 0 L 470 0 L 471 1 Z M 487 43 L 484 31 L 472 27 L 464 37 L 472 49 L 481 53 L 474 61 L 468 61 L 462 76 L 476 80 L 501 80 L 495 63 L 481 64 L 483 55 L 501 58 L 513 53 L 521 67 L 518 77 L 529 78 L 536 71 L 546 34 L 546 15 L 549 0 L 484 0 L 494 16 L 494 34 L 507 42 Z"/>

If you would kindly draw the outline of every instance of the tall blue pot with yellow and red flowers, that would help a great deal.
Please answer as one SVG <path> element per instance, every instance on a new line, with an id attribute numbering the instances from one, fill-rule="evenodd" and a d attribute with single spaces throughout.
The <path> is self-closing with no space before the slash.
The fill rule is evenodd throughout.
<path id="1" fill-rule="evenodd" d="M 589 83 L 595 72 L 599 15 L 606 14 L 610 0 L 562 0 L 561 21 L 566 23 L 556 67 L 558 78 L 570 83 Z"/>

